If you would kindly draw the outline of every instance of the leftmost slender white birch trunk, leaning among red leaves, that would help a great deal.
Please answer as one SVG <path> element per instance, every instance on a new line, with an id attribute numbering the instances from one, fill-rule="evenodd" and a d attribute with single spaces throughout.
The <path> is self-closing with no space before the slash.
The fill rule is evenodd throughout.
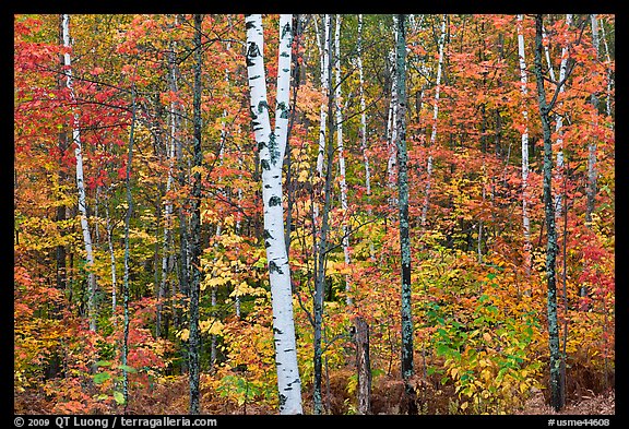
<path id="1" fill-rule="evenodd" d="M 63 14 L 62 17 L 63 47 L 70 48 L 70 15 Z M 63 53 L 63 64 L 66 65 L 66 86 L 70 91 L 70 98 L 73 105 L 76 103 L 74 87 L 72 83 L 72 62 L 70 53 Z M 81 230 L 83 231 L 83 243 L 88 272 L 88 290 L 87 290 L 87 317 L 90 320 L 90 331 L 96 332 L 96 276 L 92 272 L 94 267 L 94 252 L 92 250 L 92 235 L 87 223 L 87 204 L 85 202 L 85 182 L 83 178 L 83 148 L 81 145 L 81 132 L 79 123 L 79 112 L 74 109 L 72 122 L 72 141 L 74 142 L 74 157 L 76 158 L 76 189 L 79 191 L 79 213 L 81 214 Z"/>

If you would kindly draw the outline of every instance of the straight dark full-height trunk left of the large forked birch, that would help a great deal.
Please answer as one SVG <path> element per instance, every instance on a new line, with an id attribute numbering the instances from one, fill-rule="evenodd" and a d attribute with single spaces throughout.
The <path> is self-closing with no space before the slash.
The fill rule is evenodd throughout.
<path id="1" fill-rule="evenodd" d="M 201 45 L 201 23 L 203 16 L 194 15 L 194 93 L 192 100 L 192 122 L 193 122 L 193 165 L 203 165 L 203 153 L 201 151 L 201 65 L 203 52 Z M 189 330 L 188 338 L 188 371 L 190 383 L 190 414 L 200 413 L 199 404 L 199 377 L 201 362 L 201 332 L 199 330 L 199 295 L 201 290 L 201 172 L 192 175 L 192 218 L 190 221 L 190 235 L 192 246 L 190 249 L 190 307 L 189 307 Z"/>

